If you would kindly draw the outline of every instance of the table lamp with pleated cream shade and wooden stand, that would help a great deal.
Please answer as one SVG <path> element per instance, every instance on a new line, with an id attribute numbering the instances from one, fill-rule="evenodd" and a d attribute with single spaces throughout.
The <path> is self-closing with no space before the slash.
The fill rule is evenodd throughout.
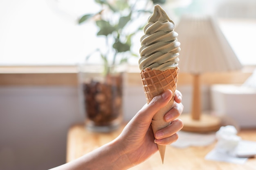
<path id="1" fill-rule="evenodd" d="M 200 76 L 209 72 L 240 69 L 236 54 L 210 16 L 184 16 L 175 28 L 181 43 L 179 68 L 193 76 L 191 114 L 182 114 L 184 131 L 217 131 L 220 118 L 201 111 Z"/>

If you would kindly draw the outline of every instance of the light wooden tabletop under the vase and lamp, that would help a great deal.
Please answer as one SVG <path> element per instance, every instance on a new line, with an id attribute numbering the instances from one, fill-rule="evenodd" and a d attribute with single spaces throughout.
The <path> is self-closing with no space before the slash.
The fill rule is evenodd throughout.
<path id="1" fill-rule="evenodd" d="M 99 146 L 110 142 L 121 133 L 124 125 L 112 133 L 93 133 L 87 131 L 83 124 L 70 128 L 67 136 L 67 162 L 81 157 Z M 244 140 L 256 141 L 256 129 L 242 130 L 238 133 Z M 245 164 L 234 164 L 205 160 L 204 157 L 215 146 L 174 148 L 166 147 L 164 164 L 159 153 L 155 153 L 145 162 L 130 170 L 256 170 L 256 158 L 250 158 Z"/>

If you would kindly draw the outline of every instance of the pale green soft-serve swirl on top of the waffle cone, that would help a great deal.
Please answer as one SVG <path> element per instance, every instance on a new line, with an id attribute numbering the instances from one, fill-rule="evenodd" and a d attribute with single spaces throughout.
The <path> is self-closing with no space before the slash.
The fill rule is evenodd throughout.
<path id="1" fill-rule="evenodd" d="M 144 28 L 145 34 L 140 39 L 140 70 L 151 68 L 165 71 L 177 67 L 180 42 L 177 41 L 178 34 L 173 29 L 174 22 L 159 5 L 155 5 Z"/>

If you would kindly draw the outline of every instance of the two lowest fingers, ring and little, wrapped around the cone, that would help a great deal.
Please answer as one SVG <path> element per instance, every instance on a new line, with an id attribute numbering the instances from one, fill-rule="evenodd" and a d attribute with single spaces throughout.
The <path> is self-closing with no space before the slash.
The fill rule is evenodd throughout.
<path id="1" fill-rule="evenodd" d="M 155 143 L 161 145 L 168 145 L 178 139 L 177 132 L 183 127 L 182 120 L 176 119 L 171 124 L 155 134 Z"/>

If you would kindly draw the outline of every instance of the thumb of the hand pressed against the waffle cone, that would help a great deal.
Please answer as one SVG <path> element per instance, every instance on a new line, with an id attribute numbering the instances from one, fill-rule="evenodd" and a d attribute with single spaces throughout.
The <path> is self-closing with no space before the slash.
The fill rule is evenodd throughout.
<path id="1" fill-rule="evenodd" d="M 164 106 L 170 102 L 171 98 L 173 96 L 173 93 L 171 90 L 166 90 L 164 93 L 155 96 L 151 102 L 143 107 L 136 115 L 136 117 L 139 117 L 139 120 L 143 120 L 146 122 L 151 122 L 153 116 L 157 111 L 162 109 Z M 171 109 L 171 108 L 170 108 Z"/>

